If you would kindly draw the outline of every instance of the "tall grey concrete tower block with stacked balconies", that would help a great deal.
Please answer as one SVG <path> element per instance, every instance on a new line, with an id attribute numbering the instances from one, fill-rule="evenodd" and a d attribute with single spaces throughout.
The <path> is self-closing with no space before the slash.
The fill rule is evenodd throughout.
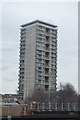
<path id="1" fill-rule="evenodd" d="M 39 20 L 24 24 L 20 32 L 19 96 L 35 89 L 56 90 L 57 26 Z"/>

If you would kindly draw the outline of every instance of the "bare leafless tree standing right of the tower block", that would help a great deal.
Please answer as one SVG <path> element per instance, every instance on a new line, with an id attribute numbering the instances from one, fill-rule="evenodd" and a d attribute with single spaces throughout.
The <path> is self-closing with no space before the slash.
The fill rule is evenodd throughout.
<path id="1" fill-rule="evenodd" d="M 60 83 L 59 91 L 57 94 L 57 101 L 58 103 L 77 103 L 78 102 L 78 95 L 74 86 L 70 83 L 66 83 L 63 85 Z"/>

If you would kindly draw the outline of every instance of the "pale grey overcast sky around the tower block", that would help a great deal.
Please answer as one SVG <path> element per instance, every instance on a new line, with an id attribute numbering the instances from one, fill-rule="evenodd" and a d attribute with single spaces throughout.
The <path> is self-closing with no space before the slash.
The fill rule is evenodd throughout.
<path id="1" fill-rule="evenodd" d="M 58 26 L 57 83 L 70 82 L 78 89 L 78 4 L 4 3 L 2 7 L 2 93 L 18 87 L 20 25 L 42 20 Z M 1 69 L 0 69 L 1 70 Z M 0 75 L 1 77 L 1 75 Z M 1 88 L 0 88 L 1 92 Z"/>

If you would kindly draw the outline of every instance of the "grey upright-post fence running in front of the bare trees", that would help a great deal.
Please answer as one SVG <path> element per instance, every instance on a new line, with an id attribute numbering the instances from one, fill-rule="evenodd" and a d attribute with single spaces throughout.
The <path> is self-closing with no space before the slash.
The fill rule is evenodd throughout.
<path id="1" fill-rule="evenodd" d="M 79 111 L 78 103 L 31 103 L 27 105 L 27 108 L 32 111 Z"/>

